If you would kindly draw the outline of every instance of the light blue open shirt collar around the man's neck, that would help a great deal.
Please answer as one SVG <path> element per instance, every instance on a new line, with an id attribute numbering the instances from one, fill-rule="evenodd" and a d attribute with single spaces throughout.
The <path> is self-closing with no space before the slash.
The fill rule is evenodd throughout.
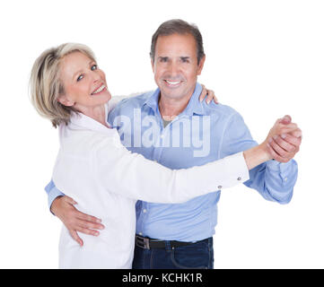
<path id="1" fill-rule="evenodd" d="M 193 92 L 186 109 L 184 109 L 181 115 L 193 116 L 205 115 L 206 111 L 203 107 L 203 103 L 199 101 L 199 96 L 202 91 L 202 86 L 200 83 L 196 83 L 195 91 Z M 144 101 L 144 105 L 149 106 L 155 114 L 159 114 L 159 98 L 160 98 L 160 89 L 157 88 L 152 94 Z"/>

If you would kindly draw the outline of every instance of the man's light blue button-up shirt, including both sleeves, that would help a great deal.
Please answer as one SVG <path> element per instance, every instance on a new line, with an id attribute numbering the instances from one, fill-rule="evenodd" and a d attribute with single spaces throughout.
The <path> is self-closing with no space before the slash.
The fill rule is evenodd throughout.
<path id="1" fill-rule="evenodd" d="M 129 151 L 141 153 L 146 159 L 172 170 L 203 165 L 258 144 L 237 111 L 214 102 L 209 105 L 205 100 L 200 102 L 201 90 L 197 83 L 187 108 L 168 126 L 163 127 L 158 108 L 159 89 L 122 100 L 110 112 L 109 124 L 118 129 L 122 143 Z M 267 161 L 250 170 L 250 180 L 244 184 L 258 190 L 267 200 L 286 204 L 293 196 L 296 179 L 295 161 Z M 183 204 L 138 201 L 136 233 L 152 239 L 180 241 L 213 236 L 222 187 L 219 188 Z M 63 195 L 53 182 L 48 184 L 46 191 L 49 206 L 54 198 Z"/>

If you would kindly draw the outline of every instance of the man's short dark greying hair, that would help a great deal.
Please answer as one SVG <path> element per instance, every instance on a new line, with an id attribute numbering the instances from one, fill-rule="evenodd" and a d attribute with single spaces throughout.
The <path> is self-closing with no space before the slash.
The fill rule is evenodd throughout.
<path id="1" fill-rule="evenodd" d="M 204 45 L 203 45 L 203 37 L 201 36 L 200 31 L 197 28 L 196 24 L 188 23 L 180 19 L 172 19 L 166 22 L 163 22 L 160 27 L 155 31 L 152 36 L 151 42 L 151 59 L 154 61 L 155 57 L 155 46 L 156 41 L 159 36 L 170 36 L 173 34 L 180 35 L 192 35 L 196 40 L 196 48 L 197 48 L 197 63 L 199 65 L 200 60 L 205 56 Z"/>

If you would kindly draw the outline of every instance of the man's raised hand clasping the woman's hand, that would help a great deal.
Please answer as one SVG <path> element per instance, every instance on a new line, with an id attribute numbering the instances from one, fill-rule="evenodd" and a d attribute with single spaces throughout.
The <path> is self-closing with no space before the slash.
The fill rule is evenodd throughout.
<path id="1" fill-rule="evenodd" d="M 283 131 L 267 138 L 267 152 L 276 161 L 288 162 L 299 152 L 302 143 L 302 130 L 296 124 L 292 124 L 290 116 L 279 118 L 276 125 L 281 126 Z M 290 132 L 285 132 L 285 127 L 292 125 L 295 125 L 295 128 Z"/>

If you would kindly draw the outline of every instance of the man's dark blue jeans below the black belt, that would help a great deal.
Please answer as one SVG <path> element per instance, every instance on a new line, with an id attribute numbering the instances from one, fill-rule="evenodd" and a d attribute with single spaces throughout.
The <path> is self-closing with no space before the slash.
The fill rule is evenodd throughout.
<path id="1" fill-rule="evenodd" d="M 190 245 L 171 248 L 165 241 L 165 248 L 144 249 L 135 247 L 133 269 L 213 269 L 213 238 Z"/>

